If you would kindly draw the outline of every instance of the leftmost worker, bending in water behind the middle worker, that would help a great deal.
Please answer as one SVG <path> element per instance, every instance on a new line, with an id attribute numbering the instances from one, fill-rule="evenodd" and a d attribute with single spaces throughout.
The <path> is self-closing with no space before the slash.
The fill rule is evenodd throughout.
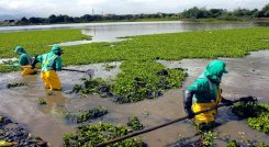
<path id="1" fill-rule="evenodd" d="M 27 52 L 22 46 L 16 46 L 14 53 L 20 55 L 19 64 L 14 64 L 15 66 L 21 66 L 23 71 L 22 76 L 36 74 L 37 68 L 31 69 L 31 64 L 33 58 L 27 54 Z"/>

